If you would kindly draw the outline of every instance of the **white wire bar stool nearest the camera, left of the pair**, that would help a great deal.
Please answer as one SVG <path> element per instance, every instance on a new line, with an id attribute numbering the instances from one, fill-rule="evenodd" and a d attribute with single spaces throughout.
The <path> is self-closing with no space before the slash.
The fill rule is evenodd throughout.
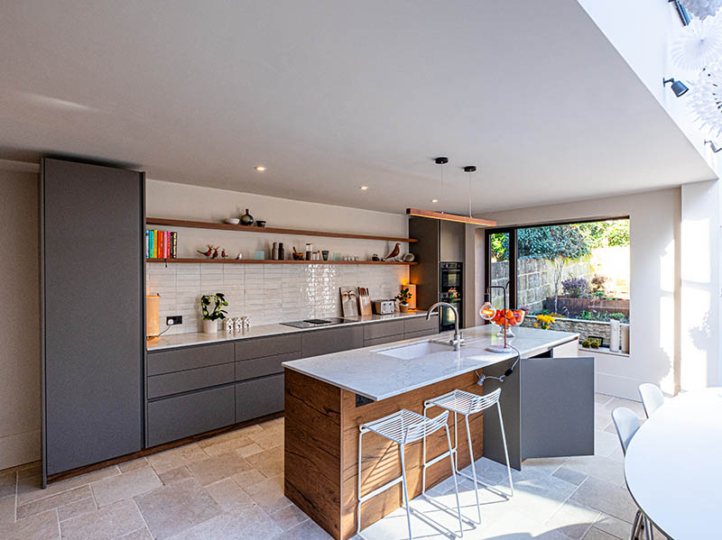
<path id="1" fill-rule="evenodd" d="M 402 409 L 398 412 L 393 413 L 389 416 L 384 416 L 383 418 L 379 418 L 378 420 L 374 420 L 373 422 L 368 422 L 366 424 L 362 424 L 361 426 L 358 426 L 358 507 L 357 507 L 357 526 L 356 526 L 356 535 L 363 538 L 364 536 L 361 535 L 361 503 L 366 502 L 368 499 L 371 499 L 378 495 L 379 493 L 382 493 L 385 490 L 388 490 L 389 488 L 395 486 L 399 482 L 402 483 L 402 490 L 403 490 L 403 500 L 404 500 L 404 506 L 406 507 L 406 523 L 409 526 L 409 540 L 412 540 L 412 517 L 411 517 L 411 507 L 409 506 L 409 490 L 408 485 L 406 483 L 406 464 L 404 462 L 404 447 L 406 444 L 412 444 L 415 443 L 421 439 L 424 440 L 424 448 L 426 447 L 426 436 L 431 435 L 433 433 L 436 433 L 441 428 L 446 429 L 446 439 L 447 443 L 449 444 L 449 452 L 444 453 L 444 455 L 449 455 L 449 461 L 451 462 L 451 473 L 452 476 L 454 476 L 454 488 L 456 490 L 457 495 L 457 514 L 458 514 L 458 526 L 459 526 L 459 533 L 455 533 L 454 531 L 450 531 L 453 535 L 461 536 L 463 532 L 463 526 L 461 523 L 461 506 L 458 502 L 458 483 L 456 481 L 456 475 L 453 474 L 454 472 L 454 462 L 451 459 L 451 435 L 449 435 L 449 426 L 448 426 L 448 420 L 449 420 L 449 411 L 444 411 L 439 416 L 436 416 L 434 418 L 428 418 L 426 416 L 421 416 L 419 413 L 414 413 L 413 411 Z M 361 459 L 362 459 L 362 450 L 361 450 L 361 443 L 364 434 L 373 432 L 376 435 L 381 435 L 382 437 L 388 439 L 389 441 L 392 441 L 395 444 L 399 445 L 399 455 L 401 456 L 401 476 L 398 478 L 394 478 L 392 481 L 386 482 L 383 486 L 380 486 L 376 488 L 373 491 L 370 491 L 369 493 L 366 493 L 366 495 L 361 495 Z M 429 519 L 430 518 L 426 518 Z M 439 524 L 436 524 L 439 525 Z M 443 527 L 444 529 L 446 527 Z"/>

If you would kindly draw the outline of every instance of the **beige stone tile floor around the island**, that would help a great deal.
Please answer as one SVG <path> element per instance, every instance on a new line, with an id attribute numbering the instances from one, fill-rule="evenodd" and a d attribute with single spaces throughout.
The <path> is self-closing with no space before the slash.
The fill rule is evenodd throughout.
<path id="1" fill-rule="evenodd" d="M 527 460 L 514 471 L 514 498 L 507 499 L 503 465 L 481 459 L 482 524 L 465 523 L 473 540 L 608 540 L 628 538 L 634 503 L 625 489 L 623 456 L 610 413 L 641 404 L 596 396 L 595 455 Z M 0 538 L 144 540 L 330 538 L 283 497 L 283 420 L 272 420 L 187 444 L 134 462 L 94 471 L 40 489 L 38 464 L 0 472 Z M 462 512 L 476 518 L 472 483 L 459 483 Z M 453 481 L 430 495 L 455 507 Z M 423 499 L 412 508 L 458 531 L 458 520 Z M 421 517 L 414 537 L 447 538 Z M 368 540 L 407 537 L 399 509 L 364 531 Z M 658 536 L 662 538 L 662 535 Z"/>

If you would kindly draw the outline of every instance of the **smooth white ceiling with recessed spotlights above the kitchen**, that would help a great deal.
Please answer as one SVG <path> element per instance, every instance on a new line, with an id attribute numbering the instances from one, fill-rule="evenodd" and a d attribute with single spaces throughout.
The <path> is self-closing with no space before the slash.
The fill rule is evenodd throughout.
<path id="1" fill-rule="evenodd" d="M 0 74 L 10 160 L 391 212 L 716 178 L 575 0 L 5 2 Z"/>

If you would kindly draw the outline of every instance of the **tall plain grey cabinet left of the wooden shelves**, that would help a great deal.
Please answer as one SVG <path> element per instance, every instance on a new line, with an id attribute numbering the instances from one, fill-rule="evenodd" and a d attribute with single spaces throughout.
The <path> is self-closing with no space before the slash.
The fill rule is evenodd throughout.
<path id="1" fill-rule="evenodd" d="M 43 482 L 143 447 L 144 183 L 42 160 Z"/>

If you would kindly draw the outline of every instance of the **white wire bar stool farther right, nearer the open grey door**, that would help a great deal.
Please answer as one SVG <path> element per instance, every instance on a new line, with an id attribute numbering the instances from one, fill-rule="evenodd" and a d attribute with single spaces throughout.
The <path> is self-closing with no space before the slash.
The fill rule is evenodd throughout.
<path id="1" fill-rule="evenodd" d="M 509 451 L 506 447 L 506 434 L 504 433 L 504 419 L 502 418 L 502 407 L 499 404 L 499 397 L 501 396 L 502 389 L 495 389 L 493 392 L 486 394 L 485 396 L 479 396 L 466 392 L 464 390 L 452 390 L 448 394 L 439 396 L 438 398 L 431 398 L 424 401 L 423 404 L 423 416 L 426 416 L 428 409 L 431 407 L 441 407 L 447 412 L 454 413 L 454 446 L 449 448 L 449 453 L 453 456 L 454 473 L 467 478 L 474 482 L 474 490 L 477 496 L 477 512 L 478 522 L 481 523 L 481 504 L 479 503 L 479 484 L 486 488 L 491 488 L 488 484 L 477 479 L 477 466 L 474 458 L 474 449 L 471 445 L 471 429 L 468 426 L 468 416 L 479 413 L 486 408 L 496 406 L 496 411 L 499 413 L 499 426 L 502 428 L 502 441 L 504 442 L 504 456 L 506 457 L 506 472 L 509 475 L 509 488 L 511 489 L 511 496 L 514 497 L 514 483 L 512 481 L 512 468 L 509 465 Z M 464 421 L 467 426 L 467 441 L 468 441 L 468 453 L 471 458 L 471 475 L 466 472 L 458 470 L 458 421 L 457 415 L 464 416 Z M 426 462 L 426 439 L 423 442 L 423 478 L 421 482 L 421 493 L 426 493 L 426 468 L 446 457 L 446 453 L 442 453 L 430 462 Z"/>

